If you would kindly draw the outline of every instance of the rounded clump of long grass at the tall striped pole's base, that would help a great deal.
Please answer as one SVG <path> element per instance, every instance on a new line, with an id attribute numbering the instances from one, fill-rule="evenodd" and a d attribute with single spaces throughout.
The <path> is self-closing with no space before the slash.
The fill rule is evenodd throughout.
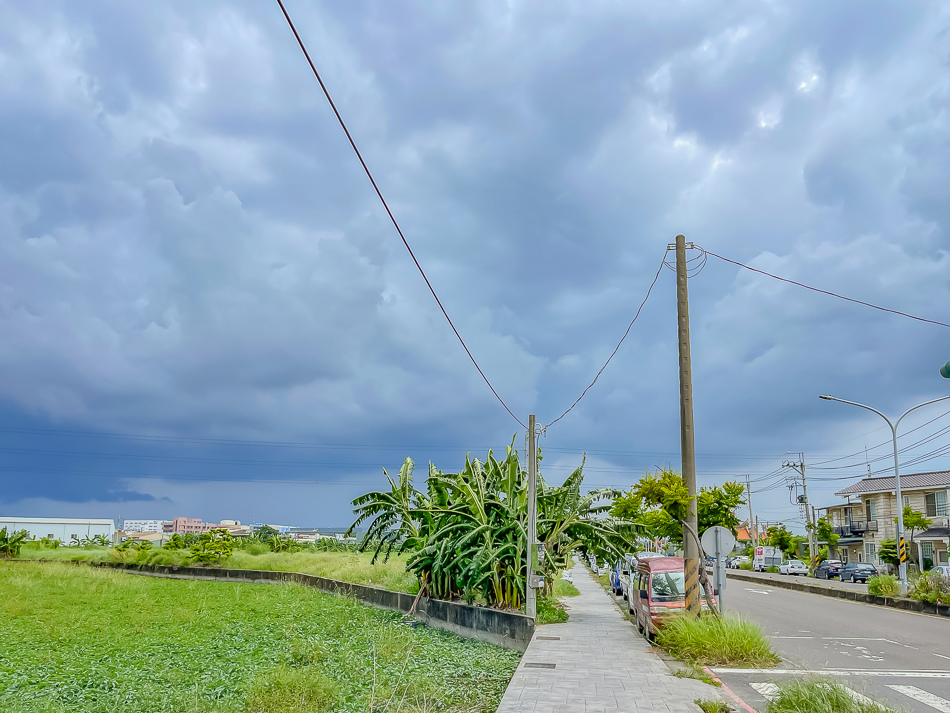
<path id="1" fill-rule="evenodd" d="M 758 624 L 733 616 L 671 616 L 657 643 L 676 658 L 703 666 L 762 668 L 780 660 Z"/>

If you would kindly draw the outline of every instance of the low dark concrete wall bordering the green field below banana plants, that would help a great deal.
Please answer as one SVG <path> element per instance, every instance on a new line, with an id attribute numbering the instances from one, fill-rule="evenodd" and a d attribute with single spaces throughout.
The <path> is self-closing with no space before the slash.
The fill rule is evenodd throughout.
<path id="1" fill-rule="evenodd" d="M 21 560 L 29 561 L 29 560 Z M 36 561 L 36 560 L 33 560 Z M 409 613 L 415 595 L 391 592 L 364 584 L 340 582 L 300 572 L 274 572 L 256 569 L 223 569 L 219 567 L 177 567 L 174 565 L 135 565 L 118 562 L 95 562 L 94 567 L 121 569 L 132 574 L 172 579 L 203 579 L 217 582 L 258 582 L 300 584 L 324 592 L 353 597 L 370 606 Z M 534 635 L 534 620 L 523 614 L 487 607 L 471 607 L 456 602 L 422 597 L 415 618 L 436 629 L 450 631 L 468 639 L 487 641 L 506 649 L 524 651 Z"/>

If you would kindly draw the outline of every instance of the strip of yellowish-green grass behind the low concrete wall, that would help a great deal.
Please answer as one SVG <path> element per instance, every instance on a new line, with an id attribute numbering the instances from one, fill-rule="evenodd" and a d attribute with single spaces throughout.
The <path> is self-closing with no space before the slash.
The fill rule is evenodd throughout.
<path id="1" fill-rule="evenodd" d="M 72 562 L 126 562 L 155 565 L 191 563 L 190 550 L 128 550 L 120 552 L 108 547 L 57 547 L 55 549 L 23 548 L 20 559 L 61 559 Z M 317 577 L 337 579 L 353 584 L 369 584 L 394 592 L 415 594 L 419 584 L 415 575 L 406 571 L 404 557 L 380 557 L 371 564 L 372 553 L 355 552 L 262 552 L 253 554 L 235 550 L 221 563 L 231 569 L 262 569 L 281 572 L 302 572 Z M 199 565 L 200 566 L 200 565 Z"/>

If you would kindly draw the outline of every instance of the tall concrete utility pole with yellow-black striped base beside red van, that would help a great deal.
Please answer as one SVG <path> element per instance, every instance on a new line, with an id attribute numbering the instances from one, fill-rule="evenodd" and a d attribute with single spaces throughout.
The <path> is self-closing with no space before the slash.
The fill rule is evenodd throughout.
<path id="1" fill-rule="evenodd" d="M 689 244 L 692 247 L 692 243 Z M 679 342 L 680 372 L 680 439 L 683 480 L 689 490 L 686 524 L 699 536 L 696 515 L 696 452 L 693 441 L 693 374 L 689 358 L 689 291 L 686 287 L 686 238 L 676 236 L 676 318 Z M 686 558 L 686 608 L 699 614 L 699 543 L 683 533 L 683 554 Z"/>

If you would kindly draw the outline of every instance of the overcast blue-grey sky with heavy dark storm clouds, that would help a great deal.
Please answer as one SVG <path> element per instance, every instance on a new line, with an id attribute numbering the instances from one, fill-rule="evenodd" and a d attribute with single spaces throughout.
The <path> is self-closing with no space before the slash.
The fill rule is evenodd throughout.
<path id="1" fill-rule="evenodd" d="M 945 3 L 288 9 L 522 421 L 590 382 L 677 233 L 950 321 Z M 381 467 L 523 442 L 276 3 L 0 0 L 0 18 L 2 514 L 340 526 Z M 787 451 L 817 505 L 887 466 L 884 422 L 819 393 L 896 415 L 950 387 L 945 327 L 714 258 L 689 289 L 700 483 L 749 474 L 763 519 L 799 517 Z M 592 487 L 679 467 L 677 399 L 663 270 L 541 440 L 545 476 L 585 450 Z M 905 423 L 908 471 L 950 466 L 950 406 Z"/>

